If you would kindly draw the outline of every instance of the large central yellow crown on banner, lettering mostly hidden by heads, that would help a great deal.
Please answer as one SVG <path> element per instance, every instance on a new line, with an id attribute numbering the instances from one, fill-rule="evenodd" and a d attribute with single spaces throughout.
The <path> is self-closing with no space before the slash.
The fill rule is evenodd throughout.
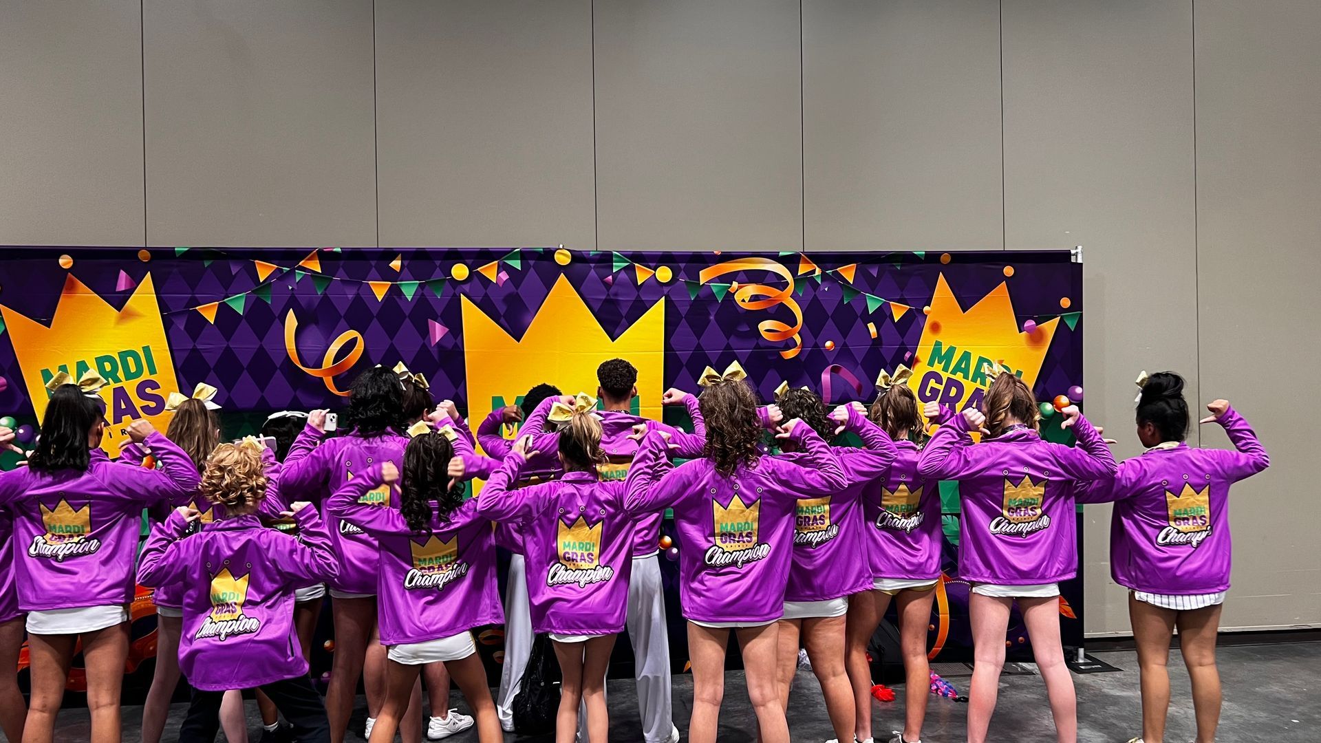
<path id="1" fill-rule="evenodd" d="M 464 365 L 468 399 L 481 415 L 491 401 L 513 403 L 546 379 L 565 390 L 594 390 L 597 365 L 612 357 L 627 358 L 638 369 L 641 414 L 659 418 L 664 389 L 664 303 L 657 301 L 642 317 L 612 338 L 565 276 L 556 279 L 527 331 L 514 338 L 466 296 Z M 535 358 L 536 364 L 519 364 Z"/>

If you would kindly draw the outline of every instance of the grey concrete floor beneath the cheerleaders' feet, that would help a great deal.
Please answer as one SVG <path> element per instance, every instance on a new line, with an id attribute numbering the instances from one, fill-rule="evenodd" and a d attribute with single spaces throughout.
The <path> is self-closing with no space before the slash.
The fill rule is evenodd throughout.
<path id="1" fill-rule="evenodd" d="M 1137 691 L 1136 660 L 1132 652 L 1095 653 L 1095 657 L 1119 669 L 1119 673 L 1092 673 L 1074 676 L 1078 690 L 1079 743 L 1118 743 L 1141 732 L 1141 706 Z M 1196 726 L 1189 699 L 1188 674 L 1178 652 L 1170 658 L 1173 701 L 1170 703 L 1166 742 L 1193 740 Z M 1276 645 L 1240 645 L 1221 648 L 1221 677 L 1225 687 L 1225 706 L 1221 715 L 1219 740 L 1250 742 L 1314 742 L 1321 740 L 1321 643 L 1292 643 Z M 968 674 L 962 665 L 945 665 L 938 670 L 967 693 Z M 727 676 L 724 711 L 720 721 L 720 740 L 750 743 L 754 740 L 753 715 L 742 686 L 741 673 Z M 633 682 L 610 681 L 610 735 L 617 742 L 641 740 L 637 722 L 637 699 Z M 464 709 L 458 693 L 453 705 Z M 900 701 L 873 703 L 875 732 L 878 739 L 902 724 L 902 689 Z M 675 722 L 687 730 L 692 677 L 679 676 L 674 681 Z M 359 702 L 361 705 L 361 702 Z M 255 726 L 256 706 L 248 703 Z M 172 735 L 182 721 L 185 705 L 176 705 L 170 714 Z M 137 740 L 137 718 L 141 707 L 124 709 L 124 740 Z M 361 710 L 355 719 L 355 732 L 349 740 L 357 743 L 361 734 Z M 927 707 L 926 743 L 954 742 L 966 738 L 964 715 L 967 705 L 950 699 L 931 698 Z M 820 743 L 834 736 L 820 703 L 816 680 L 810 672 L 799 672 L 798 685 L 789 709 L 789 727 L 795 742 Z M 61 714 L 55 740 L 86 740 L 86 710 L 67 710 Z M 170 739 L 170 738 L 166 738 Z M 223 739 L 223 736 L 222 736 Z M 252 735 L 256 742 L 258 735 Z M 454 743 L 476 742 L 472 732 L 456 735 Z M 1000 685 L 1000 701 L 991 726 L 992 740 L 1041 742 L 1055 740 L 1041 680 L 1030 673 L 1005 676 Z M 4 736 L 0 735 L 0 740 Z M 515 740 L 507 735 L 506 740 Z M 531 743 L 532 739 L 519 739 Z"/>

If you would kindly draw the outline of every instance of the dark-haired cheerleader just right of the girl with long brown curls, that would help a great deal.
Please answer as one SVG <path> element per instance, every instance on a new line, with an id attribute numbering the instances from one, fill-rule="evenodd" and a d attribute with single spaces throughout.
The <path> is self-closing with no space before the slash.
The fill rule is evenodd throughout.
<path id="1" fill-rule="evenodd" d="M 863 415 L 861 405 L 843 406 L 831 416 L 816 393 L 804 389 L 786 389 L 775 402 L 783 416 L 801 419 L 822 439 L 835 438 L 836 426 L 841 424 L 860 436 L 865 447 L 832 450 L 848 479 L 845 489 L 798 500 L 777 662 L 779 701 L 787 709 L 799 644 L 807 649 L 836 739 L 851 740 L 855 699 L 844 668 L 845 615 L 852 596 L 865 598 L 872 587 L 863 551 L 861 496 L 867 485 L 890 468 L 894 442 Z M 783 456 L 808 464 L 793 443 L 786 442 L 782 448 L 787 452 Z M 867 709 L 871 711 L 871 706 Z"/>

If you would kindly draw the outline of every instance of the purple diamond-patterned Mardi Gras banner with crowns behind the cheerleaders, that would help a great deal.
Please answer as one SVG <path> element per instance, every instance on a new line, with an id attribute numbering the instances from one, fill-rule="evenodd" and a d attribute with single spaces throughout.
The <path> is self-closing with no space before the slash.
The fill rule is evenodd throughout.
<path id="1" fill-rule="evenodd" d="M 1067 251 L 0 251 L 0 414 L 25 422 L 24 443 L 58 372 L 107 383 L 111 453 L 131 420 L 164 427 L 165 398 L 198 383 L 218 390 L 226 426 L 251 428 L 276 410 L 341 407 L 355 374 L 400 361 L 474 423 L 540 382 L 594 393 L 612 357 L 637 366 L 637 407 L 653 416 L 664 389 L 695 391 L 704 368 L 731 361 L 766 401 L 787 382 L 869 402 L 877 374 L 904 365 L 919 401 L 962 409 L 982 399 L 991 362 L 1042 401 L 1081 397 L 1082 272 Z M 1045 435 L 1069 440 L 1058 418 Z M 948 657 L 970 637 L 956 484 L 942 493 L 950 555 L 933 649 Z M 1077 586 L 1061 608 L 1066 644 L 1081 643 Z M 678 668 L 676 596 L 671 609 Z"/>

